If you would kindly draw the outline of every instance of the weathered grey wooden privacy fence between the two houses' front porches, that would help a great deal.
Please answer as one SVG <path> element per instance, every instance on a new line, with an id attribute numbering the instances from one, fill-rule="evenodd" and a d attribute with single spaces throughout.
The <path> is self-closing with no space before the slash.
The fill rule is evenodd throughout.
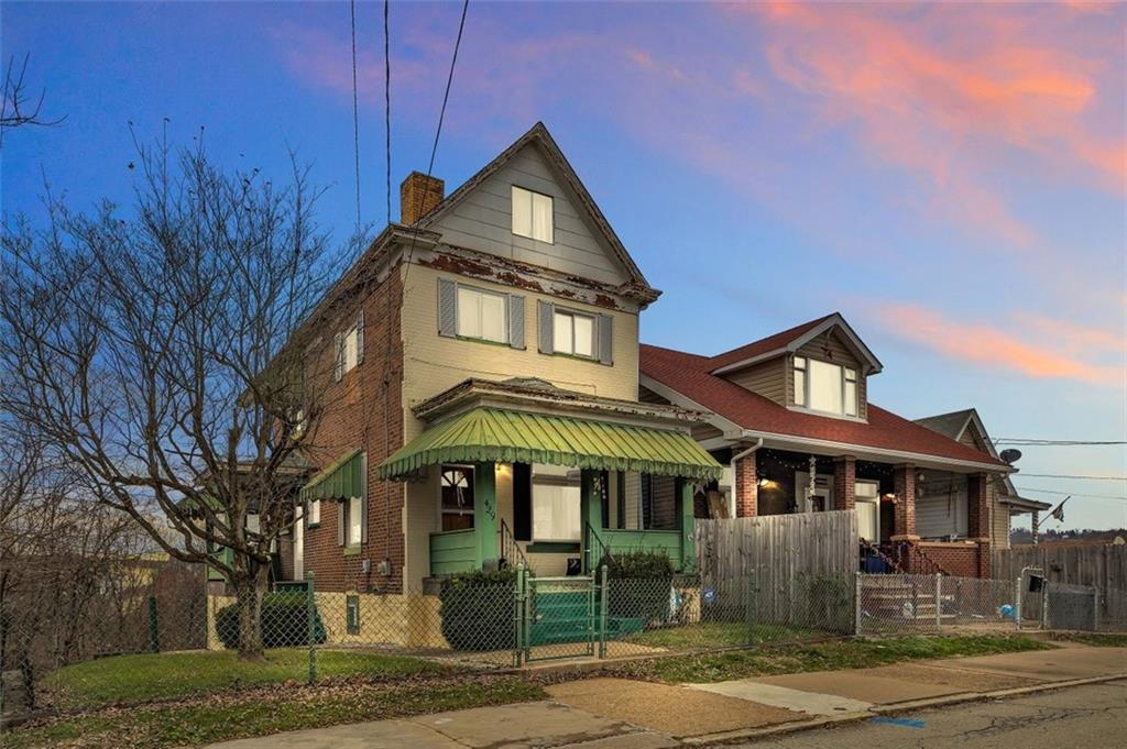
<path id="1" fill-rule="evenodd" d="M 695 534 L 701 585 L 719 598 L 746 598 L 760 622 L 852 627 L 855 512 L 699 519 Z"/>

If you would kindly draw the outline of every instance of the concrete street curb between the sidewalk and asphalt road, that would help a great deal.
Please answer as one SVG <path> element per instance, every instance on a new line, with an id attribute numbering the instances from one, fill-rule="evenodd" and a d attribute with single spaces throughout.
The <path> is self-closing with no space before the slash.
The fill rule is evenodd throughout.
<path id="1" fill-rule="evenodd" d="M 743 741 L 747 739 L 765 739 L 787 733 L 798 733 L 799 731 L 808 731 L 817 728 L 826 728 L 829 725 L 857 723 L 859 721 L 864 721 L 870 717 L 876 717 L 878 715 L 896 715 L 899 713 L 905 713 L 915 710 L 925 710 L 929 707 L 943 707 L 946 705 L 957 705 L 960 703 L 984 702 L 986 699 L 1017 697 L 1020 695 L 1035 694 L 1038 692 L 1051 692 L 1054 689 L 1064 689 L 1067 687 L 1081 687 L 1089 684 L 1102 684 L 1104 681 L 1117 681 L 1120 679 L 1127 679 L 1127 672 L 1112 674 L 1110 676 L 1093 676 L 1083 679 L 1068 679 L 1066 681 L 1046 681 L 1044 684 L 1036 684 L 1028 687 L 1013 687 L 1010 689 L 996 689 L 994 692 L 961 692 L 959 694 L 946 695 L 942 697 L 929 697 L 928 699 L 915 699 L 912 702 L 902 702 L 891 705 L 875 705 L 872 708 L 863 713 L 845 713 L 842 715 L 815 717 L 811 720 L 793 721 L 790 723 L 779 723 L 777 725 L 769 725 L 758 729 L 744 729 L 739 731 L 725 731 L 722 733 L 708 733 L 704 735 L 685 737 L 681 739 L 681 742 L 690 746 L 709 746 L 709 744 L 724 744 L 733 741 Z"/>

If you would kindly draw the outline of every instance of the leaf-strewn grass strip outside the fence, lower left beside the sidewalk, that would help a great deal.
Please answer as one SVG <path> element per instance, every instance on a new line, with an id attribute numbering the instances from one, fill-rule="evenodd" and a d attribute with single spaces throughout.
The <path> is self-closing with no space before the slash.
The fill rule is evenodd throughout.
<path id="1" fill-rule="evenodd" d="M 545 696 L 539 685 L 513 677 L 243 692 L 193 704 L 115 708 L 29 725 L 6 734 L 3 747 L 190 747 L 281 731 L 530 702 Z"/>

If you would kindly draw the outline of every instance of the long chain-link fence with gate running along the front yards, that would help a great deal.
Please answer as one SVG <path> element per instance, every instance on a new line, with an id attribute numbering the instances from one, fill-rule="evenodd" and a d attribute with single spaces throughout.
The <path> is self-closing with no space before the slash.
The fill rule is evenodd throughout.
<path id="1" fill-rule="evenodd" d="M 89 595 L 57 577 L 8 590 L 5 699 L 131 704 L 850 634 L 1017 631 L 1019 618 L 1038 626 L 1042 615 L 1054 628 L 1101 626 L 1091 588 L 1047 583 L 1035 594 L 1028 580 L 793 574 L 760 585 L 755 576 L 615 577 L 600 568 L 549 578 L 518 568 L 393 592 L 322 589 L 310 577 L 240 598 L 206 595 L 198 572 L 162 569 Z"/>

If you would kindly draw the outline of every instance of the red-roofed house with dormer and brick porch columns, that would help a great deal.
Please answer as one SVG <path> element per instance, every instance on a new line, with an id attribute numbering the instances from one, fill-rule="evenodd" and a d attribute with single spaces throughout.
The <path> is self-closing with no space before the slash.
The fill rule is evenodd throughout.
<path id="1" fill-rule="evenodd" d="M 852 509 L 902 569 L 988 576 L 995 485 L 1013 469 L 870 403 L 882 365 L 840 314 L 717 356 L 644 345 L 640 367 L 642 400 L 711 413 L 694 436 L 728 465 L 728 514 Z"/>

